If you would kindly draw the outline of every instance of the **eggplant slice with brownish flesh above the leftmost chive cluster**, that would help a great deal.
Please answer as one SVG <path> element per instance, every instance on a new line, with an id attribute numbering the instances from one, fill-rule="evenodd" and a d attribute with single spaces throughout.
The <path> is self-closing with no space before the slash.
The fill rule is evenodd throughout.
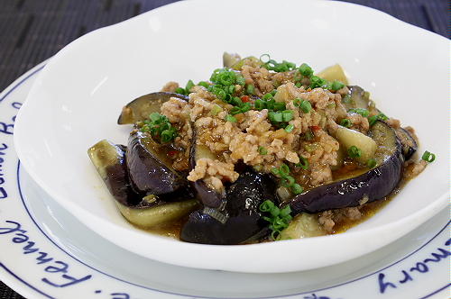
<path id="1" fill-rule="evenodd" d="M 143 95 L 134 99 L 129 104 L 126 104 L 124 108 L 122 108 L 122 113 L 121 115 L 119 115 L 117 123 L 127 124 L 144 121 L 149 117 L 149 114 L 154 112 L 160 113 L 161 104 L 169 101 L 171 97 L 177 97 L 187 102 L 189 100 L 188 96 L 186 95 L 165 92 Z"/>

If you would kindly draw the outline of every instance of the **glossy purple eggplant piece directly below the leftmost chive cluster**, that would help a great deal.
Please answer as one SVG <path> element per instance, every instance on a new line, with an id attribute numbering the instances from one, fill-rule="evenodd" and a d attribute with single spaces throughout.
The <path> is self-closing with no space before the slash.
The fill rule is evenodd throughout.
<path id="1" fill-rule="evenodd" d="M 126 165 L 133 190 L 140 195 L 184 193 L 188 181 L 168 157 L 169 145 L 152 140 L 149 134 L 133 131 L 128 140 Z"/>

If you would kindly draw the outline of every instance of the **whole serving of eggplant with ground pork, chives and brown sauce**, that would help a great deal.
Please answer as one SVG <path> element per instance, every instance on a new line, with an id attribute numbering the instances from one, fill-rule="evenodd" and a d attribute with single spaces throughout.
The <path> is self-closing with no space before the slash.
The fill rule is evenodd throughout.
<path id="1" fill-rule="evenodd" d="M 363 221 L 435 159 L 339 65 L 225 53 L 224 68 L 126 104 L 128 144 L 88 156 L 128 222 L 179 240 L 247 244 Z"/>

